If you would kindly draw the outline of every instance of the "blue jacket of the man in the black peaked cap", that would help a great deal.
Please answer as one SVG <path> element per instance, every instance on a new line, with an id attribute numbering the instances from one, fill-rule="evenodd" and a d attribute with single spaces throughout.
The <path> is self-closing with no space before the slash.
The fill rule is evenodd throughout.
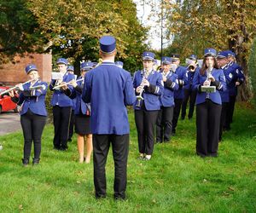
<path id="1" fill-rule="evenodd" d="M 183 86 L 188 83 L 187 68 L 184 66 L 177 66 L 177 69 L 174 73 L 177 74 L 176 82 L 178 84 L 178 89 L 174 91 L 174 99 L 183 99 Z"/>

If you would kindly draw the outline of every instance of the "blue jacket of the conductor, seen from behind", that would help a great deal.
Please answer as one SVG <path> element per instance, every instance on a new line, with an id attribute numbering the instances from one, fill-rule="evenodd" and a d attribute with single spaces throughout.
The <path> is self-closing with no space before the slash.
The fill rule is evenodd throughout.
<path id="1" fill-rule="evenodd" d="M 92 134 L 129 134 L 126 106 L 136 101 L 130 72 L 103 61 L 86 73 L 82 99 L 90 103 Z"/>

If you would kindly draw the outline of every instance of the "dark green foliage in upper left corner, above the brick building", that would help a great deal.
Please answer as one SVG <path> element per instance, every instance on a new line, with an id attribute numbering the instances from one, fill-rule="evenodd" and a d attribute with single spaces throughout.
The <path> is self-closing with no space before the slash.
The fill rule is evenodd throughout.
<path id="1" fill-rule="evenodd" d="M 2 0 L 0 3 L 0 64 L 16 54 L 41 51 L 45 43 L 38 22 L 26 8 L 26 0 Z M 35 48 L 37 47 L 37 48 Z"/>

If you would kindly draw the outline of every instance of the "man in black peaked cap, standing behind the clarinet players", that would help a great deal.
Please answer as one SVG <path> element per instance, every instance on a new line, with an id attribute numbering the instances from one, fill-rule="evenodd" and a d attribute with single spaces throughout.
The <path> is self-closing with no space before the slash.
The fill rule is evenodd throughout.
<path id="1" fill-rule="evenodd" d="M 180 109 L 183 103 L 183 86 L 186 85 L 188 81 L 188 75 L 187 75 L 187 68 L 184 66 L 179 66 L 180 60 L 179 55 L 172 54 L 171 55 L 172 60 L 172 72 L 177 74 L 177 84 L 178 89 L 174 91 L 174 111 L 173 111 L 173 118 L 172 118 L 172 135 L 176 134 L 176 127 L 177 127 L 177 120 L 179 117 Z"/>

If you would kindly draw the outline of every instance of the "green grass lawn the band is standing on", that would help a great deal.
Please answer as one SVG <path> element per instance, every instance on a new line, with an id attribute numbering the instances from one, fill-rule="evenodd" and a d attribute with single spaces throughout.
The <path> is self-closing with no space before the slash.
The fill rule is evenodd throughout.
<path id="1" fill-rule="evenodd" d="M 41 163 L 21 166 L 21 132 L 0 137 L 0 212 L 255 212 L 256 112 L 236 105 L 232 130 L 218 158 L 195 155 L 195 118 L 178 121 L 172 143 L 157 144 L 151 161 L 137 160 L 133 114 L 127 200 L 113 200 L 113 157 L 107 163 L 108 197 L 94 198 L 93 166 L 79 164 L 75 136 L 66 153 L 52 149 L 44 130 Z"/>

